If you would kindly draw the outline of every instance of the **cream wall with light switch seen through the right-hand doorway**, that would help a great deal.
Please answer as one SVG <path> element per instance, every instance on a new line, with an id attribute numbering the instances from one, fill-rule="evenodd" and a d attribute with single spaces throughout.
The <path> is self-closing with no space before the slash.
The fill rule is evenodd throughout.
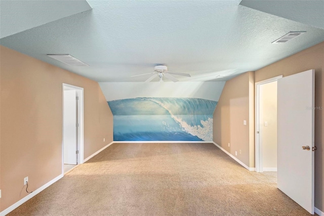
<path id="1" fill-rule="evenodd" d="M 277 81 L 260 85 L 259 95 L 262 164 L 264 168 L 275 168 L 277 167 Z"/>

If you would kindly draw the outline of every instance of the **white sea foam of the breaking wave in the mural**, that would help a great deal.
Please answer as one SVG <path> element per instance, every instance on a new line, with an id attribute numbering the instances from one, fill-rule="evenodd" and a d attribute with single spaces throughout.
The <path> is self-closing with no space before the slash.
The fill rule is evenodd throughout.
<path id="1" fill-rule="evenodd" d="M 173 115 L 171 110 L 168 109 L 168 107 L 162 102 L 158 100 L 154 100 L 152 98 L 148 100 L 151 100 L 157 103 L 158 105 L 160 105 L 161 107 L 163 107 L 164 109 L 166 109 L 170 113 L 171 118 L 173 118 L 183 128 L 185 132 L 197 136 L 200 139 L 203 139 L 205 141 L 213 140 L 213 119 L 212 118 L 208 118 L 206 121 L 201 120 L 200 123 L 202 126 L 200 125 L 191 126 L 187 122 L 183 121 L 181 118 Z"/>

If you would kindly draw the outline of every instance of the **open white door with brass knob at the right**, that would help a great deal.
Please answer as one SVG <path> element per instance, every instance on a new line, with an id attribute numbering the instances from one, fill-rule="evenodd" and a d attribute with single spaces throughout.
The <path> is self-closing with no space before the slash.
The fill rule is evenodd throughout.
<path id="1" fill-rule="evenodd" d="M 277 187 L 314 214 L 314 70 L 279 79 L 277 105 Z"/>

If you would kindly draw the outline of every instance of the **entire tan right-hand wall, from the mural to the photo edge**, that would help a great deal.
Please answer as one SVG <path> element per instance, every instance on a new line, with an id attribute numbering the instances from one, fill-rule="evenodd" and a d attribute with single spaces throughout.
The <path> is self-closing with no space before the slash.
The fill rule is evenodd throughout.
<path id="1" fill-rule="evenodd" d="M 289 76 L 309 69 L 315 69 L 315 106 L 324 106 L 324 42 L 296 53 L 290 57 L 263 67 L 254 74 L 254 81 L 259 82 L 276 76 Z M 250 72 L 251 73 L 251 72 Z M 237 158 L 250 167 L 254 167 L 252 137 L 254 129 L 242 126 L 243 119 L 253 118 L 251 104 L 254 95 L 249 94 L 251 84 L 249 73 L 242 74 L 226 82 L 214 112 L 214 142 L 235 155 L 235 150 L 242 149 Z M 250 101 L 248 99 L 250 97 Z M 250 113 L 249 113 L 250 110 Z M 315 110 L 315 207 L 324 211 L 324 110 Z M 249 116 L 250 115 L 250 116 Z M 254 121 L 254 120 L 253 120 Z M 249 122 L 248 122 L 249 124 Z M 251 123 L 252 124 L 254 123 Z M 250 136 L 250 137 L 249 137 Z M 254 135 L 253 135 L 254 136 Z M 250 139 L 250 142 L 249 142 Z M 231 147 L 227 146 L 231 142 Z M 249 146 L 250 145 L 250 146 Z M 250 147 L 250 154 L 246 151 Z M 250 164 L 249 164 L 250 157 Z"/>

